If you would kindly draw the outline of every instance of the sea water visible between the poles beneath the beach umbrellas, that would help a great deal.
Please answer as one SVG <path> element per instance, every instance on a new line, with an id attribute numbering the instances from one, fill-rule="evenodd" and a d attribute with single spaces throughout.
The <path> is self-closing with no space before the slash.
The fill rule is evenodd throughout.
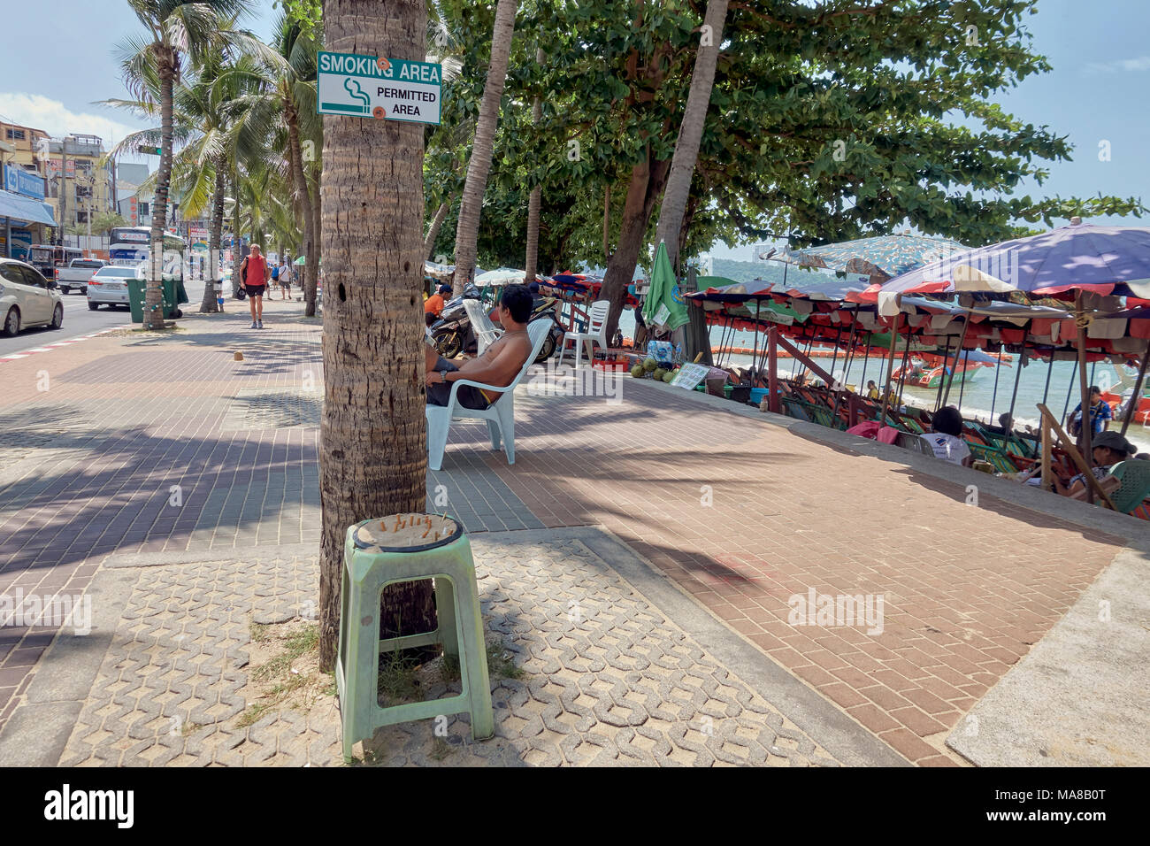
<path id="1" fill-rule="evenodd" d="M 635 336 L 635 315 L 631 311 L 624 311 L 619 319 L 619 328 L 623 335 Z M 726 334 L 720 327 L 711 327 L 711 345 L 719 346 L 720 342 L 724 346 L 743 346 L 754 349 L 758 341 L 759 360 L 766 357 L 765 333 L 735 331 L 728 330 Z M 912 353 L 913 355 L 913 353 Z M 843 384 L 853 384 L 861 392 L 866 388 L 866 382 L 874 380 L 882 387 L 882 378 L 885 375 L 885 357 L 856 357 L 849 368 L 844 367 L 844 355 L 839 352 L 831 371 L 829 358 L 814 358 L 814 363 L 825 371 L 831 373 Z M 716 364 L 731 367 L 750 367 L 753 358 L 751 356 L 731 355 L 722 359 L 715 357 Z M 895 353 L 895 367 L 902 365 L 902 353 Z M 1132 378 L 1135 372 L 1130 368 L 1119 366 L 1127 376 Z M 777 364 L 779 375 L 791 376 L 798 373 L 799 365 L 795 359 L 781 358 Z M 864 375 L 865 369 L 865 375 Z M 998 387 L 995 388 L 995 371 L 998 371 Z M 1046 388 L 1046 376 L 1050 376 L 1050 387 Z M 1066 416 L 1072 411 L 1081 398 L 1078 367 L 1074 361 L 1048 361 L 1033 360 L 1023 367 L 1021 356 L 1011 353 L 1011 360 L 1000 367 L 980 367 L 975 371 L 974 380 L 966 383 L 956 382 L 950 387 L 950 395 L 946 398 L 948 405 L 959 406 L 963 417 L 979 419 L 983 422 L 997 425 L 998 416 L 1010 411 L 1011 395 L 1014 391 L 1014 381 L 1018 379 L 1018 397 L 1014 401 L 1014 425 L 1038 427 L 1038 403 L 1043 402 L 1045 395 L 1046 407 L 1058 418 L 1059 424 L 1066 425 Z M 1148 378 L 1150 379 L 1150 378 Z M 1118 373 L 1114 365 L 1109 361 L 1097 361 L 1087 364 L 1087 384 L 1097 384 L 1103 390 L 1117 388 L 1119 383 Z M 1116 392 L 1121 392 L 1116 390 Z M 905 386 L 903 389 L 903 401 L 911 405 L 926 409 L 934 409 L 938 398 L 938 390 Z M 994 412 L 991 414 L 991 411 Z M 1111 428 L 1121 429 L 1121 420 L 1111 424 Z M 1130 421 L 1126 430 L 1126 440 L 1130 441 L 1140 451 L 1150 451 L 1150 426 Z"/>

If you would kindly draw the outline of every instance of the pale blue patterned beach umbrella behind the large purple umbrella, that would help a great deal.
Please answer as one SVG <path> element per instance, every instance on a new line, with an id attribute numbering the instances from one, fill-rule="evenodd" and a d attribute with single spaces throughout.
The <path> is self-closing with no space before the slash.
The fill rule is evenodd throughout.
<path id="1" fill-rule="evenodd" d="M 902 233 L 808 246 L 805 250 L 785 250 L 781 256 L 774 257 L 774 260 L 800 267 L 822 267 L 889 279 L 966 249 L 957 241 Z"/>

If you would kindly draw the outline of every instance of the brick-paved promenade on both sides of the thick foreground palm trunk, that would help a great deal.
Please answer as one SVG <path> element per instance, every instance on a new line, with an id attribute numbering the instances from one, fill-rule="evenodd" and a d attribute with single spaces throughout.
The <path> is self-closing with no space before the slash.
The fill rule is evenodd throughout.
<path id="1" fill-rule="evenodd" d="M 232 312 L 5 363 L 0 593 L 84 590 L 113 552 L 317 541 L 321 327 L 267 311 L 263 331 Z M 953 762 L 945 733 L 1122 547 L 620 379 L 619 404 L 521 390 L 514 467 L 485 426 L 453 426 L 428 508 L 470 533 L 604 526 L 915 763 Z M 881 594 L 882 633 L 792 625 L 788 600 L 812 588 Z M 0 627 L 0 727 L 54 634 Z"/>

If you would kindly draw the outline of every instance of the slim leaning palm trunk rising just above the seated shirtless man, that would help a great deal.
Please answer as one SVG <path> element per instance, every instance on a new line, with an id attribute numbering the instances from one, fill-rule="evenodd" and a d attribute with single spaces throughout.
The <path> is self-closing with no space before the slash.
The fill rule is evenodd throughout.
<path id="1" fill-rule="evenodd" d="M 491 170 L 491 153 L 494 147 L 496 127 L 499 123 L 499 101 L 503 99 L 507 79 L 507 56 L 515 30 L 515 12 L 519 0 L 499 0 L 496 7 L 496 25 L 491 35 L 491 63 L 488 81 L 483 86 L 483 102 L 480 105 L 480 121 L 475 125 L 471 144 L 471 160 L 467 166 L 467 182 L 463 184 L 463 200 L 459 206 L 459 223 L 455 227 L 455 294 L 475 276 L 476 242 L 480 236 L 480 213 L 483 192 Z"/>

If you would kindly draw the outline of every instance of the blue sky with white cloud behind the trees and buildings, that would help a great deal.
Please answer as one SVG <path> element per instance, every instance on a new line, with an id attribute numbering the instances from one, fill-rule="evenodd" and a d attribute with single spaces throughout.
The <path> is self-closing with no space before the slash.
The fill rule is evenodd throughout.
<path id="1" fill-rule="evenodd" d="M 256 9 L 246 25 L 267 37 L 276 14 L 271 0 L 261 0 Z M 1150 205 L 1150 2 L 1042 0 L 1027 28 L 1053 71 L 1026 79 L 998 101 L 1022 120 L 1068 136 L 1074 160 L 1052 165 L 1044 185 L 1020 192 L 1133 195 Z M 123 0 L 8 3 L 5 29 L 0 114 L 51 135 L 85 132 L 106 142 L 143 125 L 93 105 L 124 93 L 113 46 L 139 23 Z M 15 33 L 28 35 L 12 38 Z M 1110 143 L 1110 161 L 1099 161 L 1103 140 Z M 1148 218 L 1094 222 L 1150 226 Z M 739 259 L 750 253 L 750 247 L 714 251 Z"/>

